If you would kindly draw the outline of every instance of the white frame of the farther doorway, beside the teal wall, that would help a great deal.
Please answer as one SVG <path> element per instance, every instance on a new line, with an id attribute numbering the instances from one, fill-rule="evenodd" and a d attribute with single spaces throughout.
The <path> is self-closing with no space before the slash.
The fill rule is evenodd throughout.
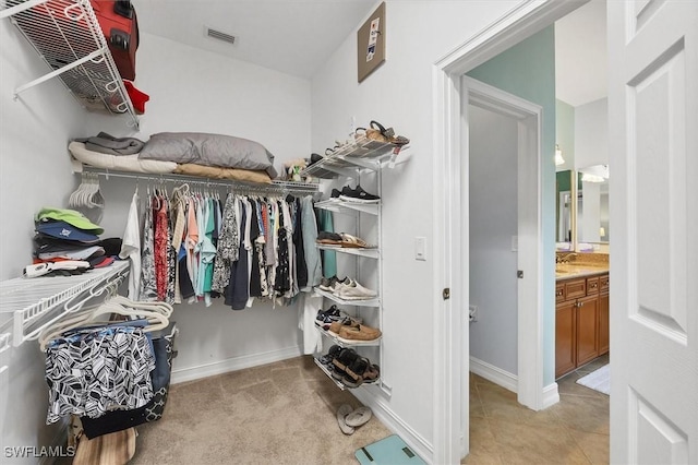
<path id="1" fill-rule="evenodd" d="M 517 122 L 517 269 L 524 277 L 517 286 L 517 375 L 516 393 L 520 404 L 533 410 L 543 408 L 543 302 L 540 284 L 542 282 L 542 193 L 541 193 L 541 106 L 527 102 L 497 87 L 469 76 L 461 78 L 462 103 L 512 118 Z M 461 169 L 467 169 L 470 159 L 470 122 L 467 105 L 462 105 Z M 468 175 L 466 175 L 468 179 Z M 462 205 L 469 204 L 469 188 L 464 188 Z M 467 210 L 467 208 L 466 208 Z M 462 212 L 462 211 L 461 211 Z M 462 213 L 461 213 L 462 214 Z M 469 214 L 465 215 L 470 222 Z M 468 233 L 464 231 L 464 237 Z M 469 243 L 469 240 L 467 241 Z M 460 262 L 470 263 L 469 248 L 461 250 Z M 469 274 L 469 271 L 468 271 Z M 466 288 L 469 276 L 458 288 Z M 470 295 L 470 289 L 464 296 Z M 468 300 L 466 300 L 467 302 Z M 469 394 L 467 383 L 461 383 L 462 395 Z M 462 398 L 462 396 L 461 396 Z M 464 406 L 465 407 L 465 406 Z M 462 417 L 468 415 L 462 408 Z M 462 422 L 462 421 L 461 421 Z"/>

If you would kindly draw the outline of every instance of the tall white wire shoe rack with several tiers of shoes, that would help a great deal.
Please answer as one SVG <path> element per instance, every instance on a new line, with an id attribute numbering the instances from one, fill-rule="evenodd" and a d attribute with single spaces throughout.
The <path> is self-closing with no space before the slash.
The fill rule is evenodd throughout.
<path id="1" fill-rule="evenodd" d="M 322 160 L 309 166 L 304 169 L 303 175 L 314 176 L 318 178 L 333 178 L 339 179 L 345 182 L 349 182 L 350 179 L 359 181 L 362 174 L 366 171 L 374 172 L 375 177 L 375 192 L 372 193 L 382 196 L 382 170 L 384 168 L 392 168 L 400 157 L 405 158 L 400 154 L 405 147 L 398 147 L 394 144 L 385 144 L 375 141 L 370 141 L 365 138 L 357 139 L 356 144 L 346 145 L 332 155 L 325 156 Z M 398 156 L 400 155 L 400 156 Z M 376 247 L 371 249 L 357 249 L 357 248 L 341 248 L 337 246 L 323 246 L 317 245 L 318 249 L 332 250 L 337 253 L 337 262 L 354 260 L 356 275 L 350 276 L 357 279 L 364 287 L 376 290 L 377 297 L 365 300 L 344 300 L 338 296 L 320 288 L 315 288 L 315 293 L 324 298 L 323 309 L 328 308 L 332 303 L 337 303 L 342 308 L 352 308 L 356 317 L 360 317 L 368 325 L 377 327 L 383 331 L 383 254 L 382 254 L 382 210 L 383 199 L 377 203 L 356 203 L 341 199 L 329 199 L 315 203 L 316 208 L 330 211 L 341 215 L 349 215 L 356 225 L 357 236 L 361 235 L 361 224 L 370 223 L 370 226 L 375 227 L 376 240 L 373 242 Z M 362 261 L 361 265 L 365 270 L 366 267 L 375 266 L 375 283 L 366 283 L 361 279 L 359 261 Z M 346 262 L 345 262 L 346 263 Z M 329 276 L 327 276 L 329 277 Z M 332 345 L 338 345 L 340 347 L 351 347 L 359 351 L 362 356 L 365 356 L 372 363 L 376 363 L 381 368 L 381 377 L 377 382 L 364 383 L 361 386 L 366 389 L 376 389 L 377 386 L 386 395 L 389 396 L 390 389 L 386 384 L 384 379 L 385 368 L 383 366 L 383 337 L 378 337 L 375 341 L 364 342 L 357 341 L 356 343 L 347 339 L 339 339 L 334 333 L 323 330 L 320 326 L 315 326 L 321 332 L 327 344 L 323 344 L 326 349 Z M 341 390 L 350 389 L 345 385 L 340 380 L 333 378 L 330 368 L 326 367 L 320 361 L 320 357 L 323 354 L 318 354 L 315 357 L 315 363 L 320 367 L 325 374 L 333 380 L 333 382 Z M 360 386 L 360 388 L 361 388 Z"/>

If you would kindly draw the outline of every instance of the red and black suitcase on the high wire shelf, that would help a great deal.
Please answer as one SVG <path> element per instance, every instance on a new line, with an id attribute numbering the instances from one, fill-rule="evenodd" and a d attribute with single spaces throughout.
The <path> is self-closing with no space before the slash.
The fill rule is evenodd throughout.
<path id="1" fill-rule="evenodd" d="M 130 0 L 91 0 L 121 78 L 135 80 L 139 22 Z"/>

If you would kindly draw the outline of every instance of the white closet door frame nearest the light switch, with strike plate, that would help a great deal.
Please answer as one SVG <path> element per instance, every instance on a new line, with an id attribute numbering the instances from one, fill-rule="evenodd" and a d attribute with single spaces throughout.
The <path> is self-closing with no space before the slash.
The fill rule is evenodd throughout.
<path id="1" fill-rule="evenodd" d="M 460 78 L 522 39 L 554 23 L 589 0 L 525 0 L 503 17 L 438 60 L 432 71 L 434 110 L 434 436 L 433 463 L 455 464 L 470 450 L 468 379 L 469 334 L 465 331 L 469 296 L 468 215 L 462 212 L 468 190 L 467 158 L 461 158 Z M 467 154 L 466 154 L 467 156 Z M 466 238 L 464 243 L 461 238 Z M 544 253 L 544 251 L 541 251 Z M 466 261 L 465 263 L 468 263 Z M 554 276 L 543 263 L 543 276 Z M 552 278 L 552 277 L 551 277 Z M 443 290 L 442 290 L 443 289 Z M 448 289 L 448 291 L 446 290 Z M 450 293 L 450 289 L 465 289 Z M 541 322 L 538 322 L 541 327 Z M 543 363 L 535 365 L 542 384 Z M 465 389 L 464 389 L 465 388 Z M 556 392 L 555 392 L 556 394 Z M 537 396 L 542 402 L 545 393 Z M 542 408 L 542 405 L 541 405 Z"/>

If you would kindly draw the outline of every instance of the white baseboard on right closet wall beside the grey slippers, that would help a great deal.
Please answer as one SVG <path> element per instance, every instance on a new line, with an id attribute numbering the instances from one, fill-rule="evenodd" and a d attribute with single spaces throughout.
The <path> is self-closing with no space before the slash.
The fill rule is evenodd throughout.
<path id="1" fill-rule="evenodd" d="M 434 446 L 424 437 L 414 431 L 390 407 L 381 400 L 383 395 L 377 386 L 361 386 L 351 393 L 378 418 L 387 429 L 402 438 L 402 440 L 428 464 L 432 463 Z"/>

